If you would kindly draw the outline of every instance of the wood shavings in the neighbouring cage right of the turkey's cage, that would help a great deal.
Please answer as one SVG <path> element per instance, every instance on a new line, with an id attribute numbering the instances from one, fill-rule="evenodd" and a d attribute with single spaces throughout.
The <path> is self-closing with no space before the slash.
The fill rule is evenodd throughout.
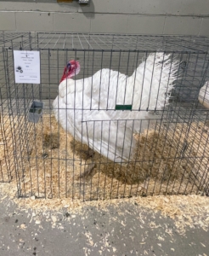
<path id="1" fill-rule="evenodd" d="M 174 147 L 178 148 L 181 156 L 186 159 L 188 170 L 192 172 L 199 189 L 208 189 L 208 121 L 205 124 L 202 122 L 171 124 L 163 130 L 163 133 L 168 140 L 172 140 Z"/>

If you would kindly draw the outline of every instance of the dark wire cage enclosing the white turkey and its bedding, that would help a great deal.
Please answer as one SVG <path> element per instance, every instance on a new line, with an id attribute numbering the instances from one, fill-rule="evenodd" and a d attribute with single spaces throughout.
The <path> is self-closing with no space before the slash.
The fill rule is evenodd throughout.
<path id="1" fill-rule="evenodd" d="M 208 110 L 198 96 L 208 77 L 208 43 L 4 33 L 1 181 L 14 182 L 19 197 L 207 195 Z M 14 82 L 14 50 L 40 52 L 40 84 Z M 80 73 L 60 83 L 75 63 Z M 34 106 L 42 112 L 36 121 Z"/>

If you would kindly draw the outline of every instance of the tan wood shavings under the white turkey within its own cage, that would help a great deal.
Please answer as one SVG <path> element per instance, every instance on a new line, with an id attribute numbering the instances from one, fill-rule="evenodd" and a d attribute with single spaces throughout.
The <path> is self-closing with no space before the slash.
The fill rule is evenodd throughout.
<path id="1" fill-rule="evenodd" d="M 30 146 L 25 147 L 25 137 L 15 143 L 15 152 L 21 147 L 24 154 L 19 152 L 16 161 L 20 194 L 93 200 L 197 191 L 191 166 L 163 132 L 150 130 L 134 136 L 138 139 L 135 162 L 114 164 L 67 135 L 53 116 L 43 115 L 42 122 L 28 131 Z M 11 140 L 7 137 L 10 145 Z M 197 149 L 195 154 L 200 154 Z M 88 166 L 94 166 L 93 172 L 82 177 Z M 14 173 L 12 183 L 15 186 Z"/>

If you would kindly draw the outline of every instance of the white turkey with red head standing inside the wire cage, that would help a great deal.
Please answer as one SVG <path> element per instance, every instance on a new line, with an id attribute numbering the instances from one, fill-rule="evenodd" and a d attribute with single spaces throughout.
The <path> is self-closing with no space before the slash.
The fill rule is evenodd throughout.
<path id="1" fill-rule="evenodd" d="M 69 61 L 53 103 L 55 118 L 79 142 L 115 162 L 133 159 L 138 122 L 147 109 L 167 105 L 178 61 L 161 52 L 153 53 L 127 77 L 104 68 L 86 79 L 71 79 L 80 72 L 78 61 Z M 130 105 L 130 110 L 116 110 Z M 139 110 L 139 111 L 138 111 Z M 144 111 L 143 111 L 144 110 Z"/>

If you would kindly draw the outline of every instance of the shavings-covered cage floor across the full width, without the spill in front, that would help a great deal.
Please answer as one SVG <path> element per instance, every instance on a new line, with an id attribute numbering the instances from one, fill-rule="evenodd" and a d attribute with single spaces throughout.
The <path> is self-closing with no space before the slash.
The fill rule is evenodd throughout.
<path id="1" fill-rule="evenodd" d="M 1 148 L 2 177 L 10 174 L 19 196 L 95 200 L 192 194 L 206 187 L 203 181 L 208 183 L 208 136 L 207 126 L 202 123 L 198 124 L 199 133 L 194 132 L 195 123 L 189 133 L 184 131 L 188 125 L 179 123 L 178 128 L 170 125 L 167 130 L 161 125 L 135 134 L 138 147 L 134 161 L 121 165 L 76 142 L 54 116 L 43 115 L 38 125 L 27 126 L 27 134 L 16 129 L 24 122 L 20 117 L 13 119 L 14 127 Z M 8 123 L 9 118 L 4 127 L 10 127 Z M 185 135 L 192 142 L 187 148 L 184 148 Z M 10 168 L 11 173 L 7 169 L 8 160 L 10 166 L 15 165 Z M 91 167 L 93 171 L 83 176 Z"/>

